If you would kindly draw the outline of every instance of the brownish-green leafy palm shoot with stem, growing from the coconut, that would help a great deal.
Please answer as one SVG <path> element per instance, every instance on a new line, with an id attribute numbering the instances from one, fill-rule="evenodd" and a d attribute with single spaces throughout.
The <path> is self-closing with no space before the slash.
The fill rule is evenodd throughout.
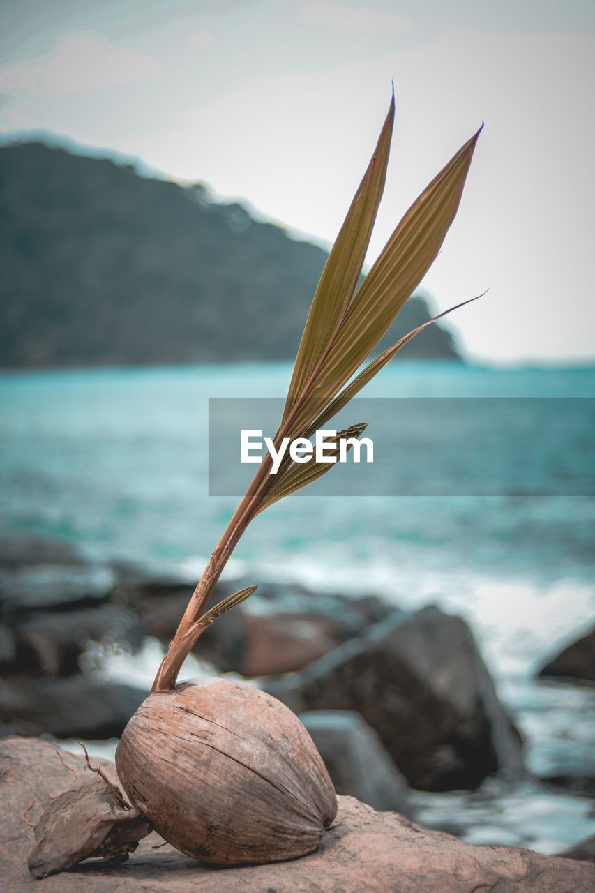
<path id="1" fill-rule="evenodd" d="M 440 251 L 457 213 L 481 130 L 459 149 L 411 205 L 355 292 L 384 188 L 393 117 L 394 96 L 372 161 L 331 249 L 314 295 L 289 385 L 281 428 L 274 438 L 277 448 L 281 438 L 308 437 L 313 430 L 320 428 L 408 340 L 433 321 L 409 332 L 350 381 L 389 329 Z M 440 313 L 434 319 L 443 315 Z M 340 431 L 337 440 L 341 437 L 358 437 L 364 429 L 365 423 L 362 423 Z M 334 455 L 339 456 L 338 442 L 335 449 Z M 268 473 L 270 465 L 265 459 L 258 467 L 254 480 L 211 554 L 167 655 L 163 657 L 152 691 L 171 689 L 182 662 L 200 633 L 221 613 L 239 604 L 254 591 L 255 587 L 242 589 L 215 605 L 210 612 L 202 613 L 222 568 L 249 522 L 269 505 L 306 487 L 332 468 L 332 463 L 317 463 L 315 460 L 296 463 L 289 457 L 289 460 L 281 463 L 277 475 L 272 476 Z"/>

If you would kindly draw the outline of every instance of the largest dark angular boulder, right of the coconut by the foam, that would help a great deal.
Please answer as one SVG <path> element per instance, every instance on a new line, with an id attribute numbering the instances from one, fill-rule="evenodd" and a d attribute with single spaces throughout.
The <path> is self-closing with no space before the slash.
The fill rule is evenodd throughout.
<path id="1" fill-rule="evenodd" d="M 475 789 L 523 768 L 471 631 L 434 606 L 391 614 L 305 670 L 260 684 L 295 713 L 361 714 L 412 788 Z"/>

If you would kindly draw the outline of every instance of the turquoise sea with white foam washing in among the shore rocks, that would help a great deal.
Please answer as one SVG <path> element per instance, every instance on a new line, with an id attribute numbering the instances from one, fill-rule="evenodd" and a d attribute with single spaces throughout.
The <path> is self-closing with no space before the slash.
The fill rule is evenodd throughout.
<path id="1" fill-rule="evenodd" d="M 197 578 L 239 502 L 209 495 L 209 400 L 280 398 L 290 374 L 287 363 L 0 373 L 0 527 Z M 305 488 L 250 524 L 227 575 L 463 616 L 530 775 L 420 794 L 417 819 L 473 843 L 559 852 L 595 833 L 584 796 L 595 688 L 535 674 L 595 620 L 595 368 L 400 361 L 363 393 L 371 437 L 399 405 L 421 410 L 423 437 L 419 421 L 390 435 L 413 486 L 399 460 L 381 466 L 386 487 Z M 106 672 L 150 681 L 157 661 L 148 643 L 107 655 Z M 553 777 L 566 786 L 542 780 Z"/>

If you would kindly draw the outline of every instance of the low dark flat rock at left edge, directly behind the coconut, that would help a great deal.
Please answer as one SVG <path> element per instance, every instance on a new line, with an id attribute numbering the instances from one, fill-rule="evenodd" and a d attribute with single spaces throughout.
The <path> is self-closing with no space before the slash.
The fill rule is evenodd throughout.
<path id="1" fill-rule="evenodd" d="M 0 734 L 56 738 L 114 738 L 148 692 L 88 675 L 65 679 L 4 680 Z"/>

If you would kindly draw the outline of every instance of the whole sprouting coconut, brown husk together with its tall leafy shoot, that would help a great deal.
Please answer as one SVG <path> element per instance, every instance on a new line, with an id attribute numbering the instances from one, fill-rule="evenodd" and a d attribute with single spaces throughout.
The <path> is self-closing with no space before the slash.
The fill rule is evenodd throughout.
<path id="1" fill-rule="evenodd" d="M 311 438 L 323 430 L 402 346 L 444 315 L 409 332 L 356 374 L 438 254 L 480 132 L 415 200 L 356 290 L 384 187 L 393 118 L 394 96 L 314 295 L 274 438 L 277 452 L 283 438 Z M 256 589 L 242 589 L 203 613 L 248 523 L 328 472 L 339 440 L 359 437 L 364 429 L 360 423 L 327 438 L 325 463 L 314 456 L 297 462 L 286 453 L 271 474 L 266 455 L 207 563 L 151 694 L 122 734 L 116 767 L 134 815 L 199 860 L 232 865 L 305 855 L 318 847 L 337 812 L 322 759 L 286 706 L 236 681 L 176 680 L 200 634 Z"/>

